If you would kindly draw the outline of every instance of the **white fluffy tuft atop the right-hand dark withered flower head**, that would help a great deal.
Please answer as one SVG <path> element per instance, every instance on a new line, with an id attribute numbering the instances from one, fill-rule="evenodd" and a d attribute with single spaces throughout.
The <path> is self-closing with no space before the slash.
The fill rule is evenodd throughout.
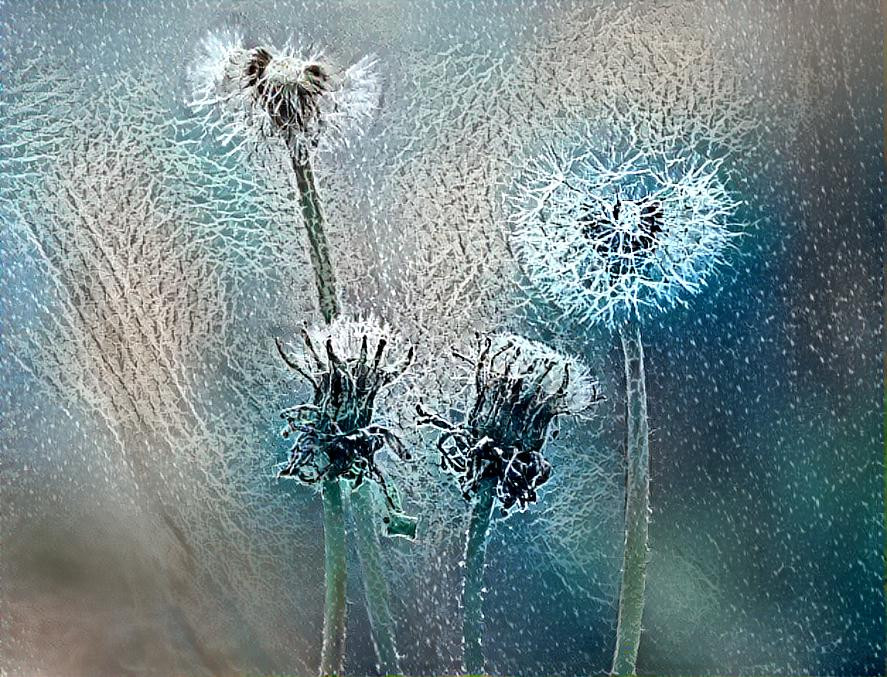
<path id="1" fill-rule="evenodd" d="M 600 400 L 598 382 L 580 360 L 517 334 L 490 337 L 487 366 L 490 379 L 517 379 L 532 383 L 546 396 L 562 392 L 562 413 L 581 414 Z"/>

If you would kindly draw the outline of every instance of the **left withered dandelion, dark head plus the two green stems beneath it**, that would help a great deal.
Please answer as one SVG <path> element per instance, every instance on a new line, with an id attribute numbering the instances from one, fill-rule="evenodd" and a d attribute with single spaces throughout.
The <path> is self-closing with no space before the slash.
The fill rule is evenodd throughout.
<path id="1" fill-rule="evenodd" d="M 330 325 L 303 331 L 304 350 L 291 357 L 278 342 L 281 358 L 311 387 L 310 401 L 281 412 L 282 435 L 293 441 L 290 457 L 278 477 L 320 484 L 324 506 L 326 599 L 321 675 L 342 674 L 345 641 L 345 521 L 342 485 L 356 491 L 364 482 L 379 486 L 388 506 L 389 535 L 415 536 L 416 520 L 403 514 L 400 499 L 376 464 L 376 454 L 390 449 L 398 458 L 409 453 L 397 435 L 378 420 L 377 398 L 391 387 L 413 360 L 413 348 L 399 350 L 392 332 L 375 320 L 339 318 Z M 355 496 L 359 495 L 357 493 Z M 361 516 L 368 514 L 364 511 Z M 360 519 L 355 512 L 355 519 Z M 358 522 L 358 526 L 363 524 Z M 372 529 L 372 526 L 369 527 Z M 359 532 L 361 529 L 359 528 Z M 384 604 L 369 603 L 380 661 L 396 664 L 393 621 L 387 615 L 387 587 L 377 550 L 359 534 L 367 578 L 367 596 L 382 595 Z"/>

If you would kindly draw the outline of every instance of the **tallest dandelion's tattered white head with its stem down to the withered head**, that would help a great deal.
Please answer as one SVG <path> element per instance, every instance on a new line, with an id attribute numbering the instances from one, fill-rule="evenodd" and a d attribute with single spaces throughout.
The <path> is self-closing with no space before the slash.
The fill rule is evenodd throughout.
<path id="1" fill-rule="evenodd" d="M 321 313 L 332 321 L 336 275 L 312 158 L 368 127 L 381 96 L 374 59 L 337 68 L 319 52 L 246 48 L 239 34 L 217 33 L 204 38 L 190 76 L 191 106 L 205 130 L 257 160 L 260 171 L 292 171 L 286 188 L 300 206 Z"/>

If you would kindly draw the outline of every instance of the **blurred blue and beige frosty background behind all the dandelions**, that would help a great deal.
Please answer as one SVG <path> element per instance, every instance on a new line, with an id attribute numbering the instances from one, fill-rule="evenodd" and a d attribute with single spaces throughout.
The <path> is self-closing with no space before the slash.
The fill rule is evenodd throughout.
<path id="1" fill-rule="evenodd" d="M 456 465 L 484 450 L 468 412 L 489 357 L 476 335 L 493 334 L 572 356 L 606 399 L 545 431 L 538 500 L 492 513 L 482 609 L 471 610 L 482 665 L 611 670 L 631 392 L 622 318 L 608 319 L 606 297 L 587 304 L 596 282 L 565 301 L 536 264 L 578 257 L 514 214 L 532 213 L 528 168 L 594 169 L 571 153 L 616 129 L 642 158 L 658 157 L 651 136 L 724 158 L 717 176 L 741 232 L 705 284 L 685 280 L 698 286 L 680 291 L 685 305 L 666 290 L 661 307 L 638 311 L 651 520 L 637 672 L 883 673 L 874 2 L 0 9 L 3 675 L 303 675 L 320 664 L 325 505 L 316 486 L 275 478 L 292 461 L 280 412 L 312 398 L 275 339 L 317 382 L 335 373 L 301 335 L 313 328 L 319 347 L 327 329 L 292 148 L 268 134 L 223 143 L 213 113 L 189 105 L 208 36 L 235 33 L 322 52 L 337 77 L 371 56 L 379 77 L 359 138 L 298 140 L 311 146 L 341 312 L 375 323 L 335 349 L 396 336 L 384 371 L 414 347 L 373 412 L 374 434 L 396 433 L 379 439 L 411 458 L 380 450 L 373 472 L 418 518 L 416 536 L 379 538 L 373 569 L 360 494 L 343 494 L 354 509 L 345 672 L 379 674 L 369 591 L 380 572 L 403 674 L 463 668 L 462 494 L 477 478 L 442 472 L 438 441 L 456 429 Z M 627 157 L 617 164 L 637 168 Z M 581 197 L 600 189 L 565 174 L 555 218 L 586 219 L 589 251 L 620 254 L 600 284 L 683 204 L 660 182 L 664 197 L 641 205 L 628 182 L 607 218 L 641 205 L 642 237 L 601 244 L 606 219 L 586 216 L 601 207 Z M 521 246 L 516 231 L 529 233 Z M 620 290 L 635 292 L 649 298 Z M 382 515 L 399 512 L 374 497 L 384 531 Z"/>

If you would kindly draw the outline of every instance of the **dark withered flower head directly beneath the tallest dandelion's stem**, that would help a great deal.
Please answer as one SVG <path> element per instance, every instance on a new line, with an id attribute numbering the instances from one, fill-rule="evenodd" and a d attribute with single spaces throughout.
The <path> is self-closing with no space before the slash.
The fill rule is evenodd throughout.
<path id="1" fill-rule="evenodd" d="M 403 529 L 397 492 L 386 482 L 375 457 L 384 447 L 402 460 L 409 460 L 410 454 L 383 424 L 376 399 L 406 372 L 413 360 L 412 346 L 404 350 L 393 332 L 374 319 L 337 319 L 303 330 L 302 341 L 304 349 L 292 355 L 277 344 L 286 364 L 313 391 L 310 401 L 280 414 L 286 421 L 281 434 L 292 440 L 292 447 L 277 476 L 305 484 L 347 480 L 354 489 L 365 480 L 375 482 L 388 503 L 389 531 L 392 524 Z"/>

